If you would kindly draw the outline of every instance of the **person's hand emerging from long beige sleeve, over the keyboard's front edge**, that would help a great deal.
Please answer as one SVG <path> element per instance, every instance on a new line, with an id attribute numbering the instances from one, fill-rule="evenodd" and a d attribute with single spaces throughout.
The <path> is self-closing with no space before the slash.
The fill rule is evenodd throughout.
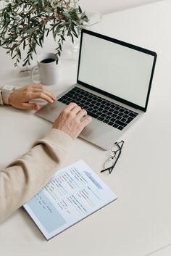
<path id="1" fill-rule="evenodd" d="M 87 116 L 86 110 L 82 110 L 75 103 L 70 103 L 54 121 L 53 128 L 59 129 L 76 139 L 83 128 L 92 120 Z"/>

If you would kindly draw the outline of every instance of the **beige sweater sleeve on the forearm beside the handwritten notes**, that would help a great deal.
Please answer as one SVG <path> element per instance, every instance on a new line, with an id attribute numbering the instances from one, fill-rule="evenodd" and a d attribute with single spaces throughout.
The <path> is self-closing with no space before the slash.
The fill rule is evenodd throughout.
<path id="1" fill-rule="evenodd" d="M 46 185 L 72 142 L 66 133 L 52 129 L 27 154 L 0 171 L 0 221 Z"/>

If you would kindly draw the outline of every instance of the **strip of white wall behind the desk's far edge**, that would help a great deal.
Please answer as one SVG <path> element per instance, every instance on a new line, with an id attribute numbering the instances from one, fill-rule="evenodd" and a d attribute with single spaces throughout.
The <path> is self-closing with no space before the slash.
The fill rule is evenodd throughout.
<path id="1" fill-rule="evenodd" d="M 122 9 L 137 7 L 163 0 L 80 0 L 80 7 L 86 12 L 117 12 Z"/>

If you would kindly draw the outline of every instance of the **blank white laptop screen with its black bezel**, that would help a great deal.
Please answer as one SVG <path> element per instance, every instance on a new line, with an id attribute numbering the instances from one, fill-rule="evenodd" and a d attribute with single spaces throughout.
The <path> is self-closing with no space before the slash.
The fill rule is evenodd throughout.
<path id="1" fill-rule="evenodd" d="M 156 57 L 153 51 L 83 30 L 78 82 L 146 110 Z"/>

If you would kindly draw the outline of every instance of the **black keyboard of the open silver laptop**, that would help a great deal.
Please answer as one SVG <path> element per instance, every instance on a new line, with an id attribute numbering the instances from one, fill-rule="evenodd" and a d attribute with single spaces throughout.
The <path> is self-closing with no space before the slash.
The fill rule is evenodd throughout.
<path id="1" fill-rule="evenodd" d="M 97 120 L 119 130 L 125 128 L 138 115 L 136 112 L 109 102 L 107 99 L 91 94 L 78 87 L 72 88 L 72 90 L 68 91 L 67 94 L 64 94 L 58 100 L 64 104 L 75 102 L 81 108 L 85 109 L 91 117 L 95 117 Z"/>

